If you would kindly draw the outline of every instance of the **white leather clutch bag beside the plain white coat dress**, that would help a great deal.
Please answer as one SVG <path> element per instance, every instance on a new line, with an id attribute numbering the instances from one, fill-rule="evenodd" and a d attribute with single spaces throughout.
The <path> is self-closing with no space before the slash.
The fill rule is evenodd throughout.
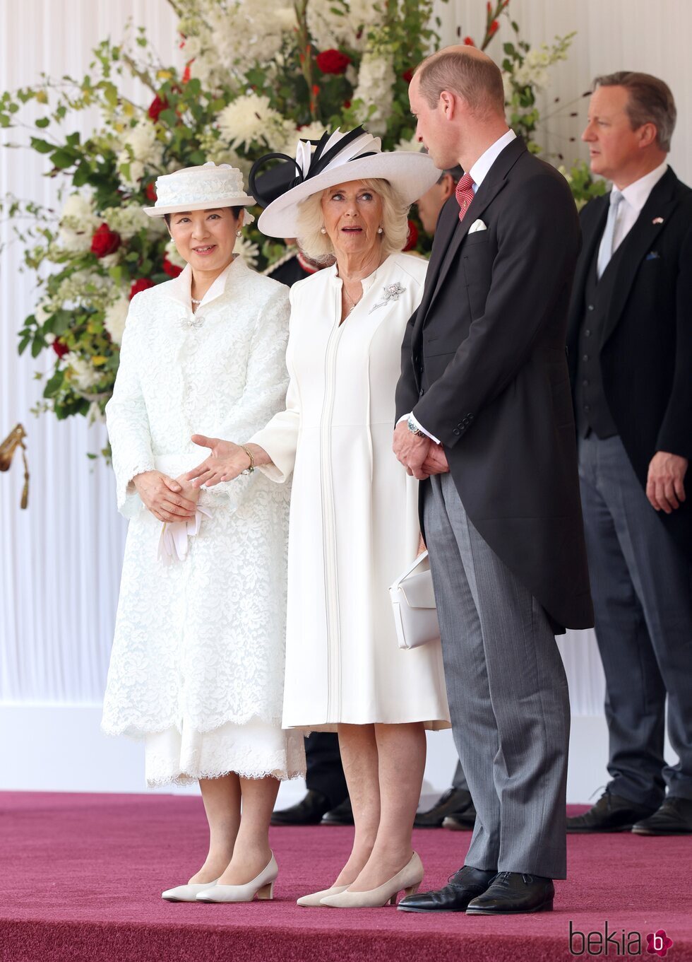
<path id="1" fill-rule="evenodd" d="M 439 641 L 433 575 L 427 551 L 419 554 L 397 578 L 389 589 L 389 596 L 400 648 L 417 648 Z"/>

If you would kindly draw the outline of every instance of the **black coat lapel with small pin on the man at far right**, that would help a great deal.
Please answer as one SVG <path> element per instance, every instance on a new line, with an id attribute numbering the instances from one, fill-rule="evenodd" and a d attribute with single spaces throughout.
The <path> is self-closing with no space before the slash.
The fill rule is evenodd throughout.
<path id="1" fill-rule="evenodd" d="M 623 241 L 627 247 L 623 248 L 623 256 L 619 258 L 616 267 L 617 274 L 608 305 L 601 346 L 606 343 L 622 316 L 639 265 L 654 247 L 655 239 L 678 205 L 674 196 L 676 183 L 677 177 L 669 167 L 655 185 L 634 226 Z"/>

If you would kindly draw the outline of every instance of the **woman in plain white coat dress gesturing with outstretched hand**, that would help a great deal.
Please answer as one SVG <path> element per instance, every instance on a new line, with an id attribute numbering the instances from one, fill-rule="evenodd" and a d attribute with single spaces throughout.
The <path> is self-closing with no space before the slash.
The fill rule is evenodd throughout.
<path id="1" fill-rule="evenodd" d="M 408 205 L 439 174 L 425 155 L 381 153 L 361 128 L 325 135 L 313 155 L 299 143 L 296 168 L 260 229 L 336 264 L 290 291 L 285 410 L 244 447 L 198 438 L 211 456 L 187 478 L 213 486 L 248 466 L 280 483 L 293 475 L 284 725 L 338 730 L 356 824 L 332 888 L 299 904 L 383 905 L 422 879 L 411 828 L 424 728 L 449 725 L 439 645 L 397 646 L 387 591 L 420 537 L 417 482 L 391 429 L 427 265 L 400 251 Z"/>

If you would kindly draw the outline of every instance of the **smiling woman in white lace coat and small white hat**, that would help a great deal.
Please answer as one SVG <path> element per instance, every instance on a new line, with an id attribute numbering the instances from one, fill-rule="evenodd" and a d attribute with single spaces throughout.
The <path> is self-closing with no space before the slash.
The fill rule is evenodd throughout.
<path id="1" fill-rule="evenodd" d="M 304 772 L 281 726 L 289 493 L 259 471 L 212 492 L 181 475 L 195 431 L 249 437 L 284 407 L 288 291 L 233 253 L 254 202 L 239 171 L 187 168 L 157 190 L 148 213 L 187 266 L 133 298 L 106 411 L 130 526 L 103 728 L 144 740 L 150 785 L 199 780 L 209 854 L 163 898 L 217 880 L 224 900 L 270 897 L 279 779 Z"/>

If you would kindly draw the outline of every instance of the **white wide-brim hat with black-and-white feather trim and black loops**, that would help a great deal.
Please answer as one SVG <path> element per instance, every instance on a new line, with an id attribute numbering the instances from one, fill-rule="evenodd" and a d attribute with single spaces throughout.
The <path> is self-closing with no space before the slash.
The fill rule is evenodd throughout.
<path id="1" fill-rule="evenodd" d="M 298 205 L 314 193 L 348 181 L 382 179 L 397 191 L 405 204 L 412 204 L 437 182 L 440 171 L 427 154 L 411 151 L 384 151 L 379 137 L 362 127 L 342 134 L 325 134 L 312 152 L 307 140 L 299 140 L 295 161 L 285 154 L 267 154 L 250 171 L 250 190 L 262 203 L 255 189 L 255 178 L 270 160 L 282 159 L 287 171 L 286 190 L 272 200 L 260 215 L 258 227 L 274 238 L 294 238 L 298 234 Z"/>

